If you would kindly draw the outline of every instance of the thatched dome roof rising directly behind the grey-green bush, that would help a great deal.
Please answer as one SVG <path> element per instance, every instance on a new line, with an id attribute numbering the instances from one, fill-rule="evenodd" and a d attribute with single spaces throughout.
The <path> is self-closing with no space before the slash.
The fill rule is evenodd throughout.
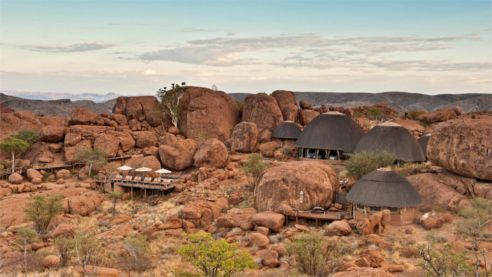
<path id="1" fill-rule="evenodd" d="M 401 161 L 424 161 L 425 154 L 415 137 L 403 126 L 385 122 L 372 128 L 357 144 L 354 152 L 386 150 Z"/>

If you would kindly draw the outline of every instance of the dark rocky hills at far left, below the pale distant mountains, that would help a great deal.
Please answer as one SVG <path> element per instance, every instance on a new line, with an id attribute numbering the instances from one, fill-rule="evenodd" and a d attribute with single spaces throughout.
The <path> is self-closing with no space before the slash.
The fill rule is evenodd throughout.
<path id="1" fill-rule="evenodd" d="M 111 113 L 116 99 L 108 100 L 102 103 L 95 103 L 91 100 L 58 99 L 58 100 L 33 100 L 20 97 L 10 96 L 1 93 L 0 103 L 17 110 L 31 111 L 35 114 L 40 112 L 44 116 L 67 116 L 73 109 L 84 107 L 94 113 Z"/>

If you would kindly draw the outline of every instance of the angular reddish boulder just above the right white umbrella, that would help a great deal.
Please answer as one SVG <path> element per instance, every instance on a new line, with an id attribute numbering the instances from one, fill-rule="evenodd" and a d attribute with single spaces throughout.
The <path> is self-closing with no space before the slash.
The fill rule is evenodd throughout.
<path id="1" fill-rule="evenodd" d="M 194 155 L 198 151 L 193 139 L 179 140 L 171 145 L 161 145 L 159 155 L 162 164 L 171 170 L 183 170 L 193 165 Z"/>

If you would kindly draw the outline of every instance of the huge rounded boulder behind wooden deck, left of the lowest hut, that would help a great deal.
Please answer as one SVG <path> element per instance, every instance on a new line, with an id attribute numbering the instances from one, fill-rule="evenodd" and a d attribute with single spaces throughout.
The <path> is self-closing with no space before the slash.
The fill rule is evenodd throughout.
<path id="1" fill-rule="evenodd" d="M 274 209 L 282 201 L 306 211 L 311 206 L 329 206 L 337 190 L 338 178 L 333 168 L 317 161 L 295 161 L 263 172 L 254 194 L 259 211 Z"/>

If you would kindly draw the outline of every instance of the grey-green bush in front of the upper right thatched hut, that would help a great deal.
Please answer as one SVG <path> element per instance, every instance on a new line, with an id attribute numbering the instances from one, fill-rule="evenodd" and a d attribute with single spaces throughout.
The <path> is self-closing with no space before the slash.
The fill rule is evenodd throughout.
<path id="1" fill-rule="evenodd" d="M 388 153 L 386 151 L 373 153 L 361 151 L 352 155 L 345 161 L 348 175 L 354 177 L 356 180 L 362 178 L 362 176 L 369 172 L 381 167 L 388 167 L 393 165 L 396 160 L 396 155 Z"/>

